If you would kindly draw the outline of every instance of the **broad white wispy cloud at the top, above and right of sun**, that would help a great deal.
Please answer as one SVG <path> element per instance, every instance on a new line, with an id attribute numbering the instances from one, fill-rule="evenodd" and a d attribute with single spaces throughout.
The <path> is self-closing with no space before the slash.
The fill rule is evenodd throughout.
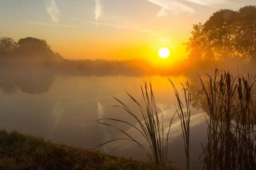
<path id="1" fill-rule="evenodd" d="M 157 13 L 157 17 L 164 17 L 171 13 L 172 15 L 178 14 L 194 14 L 195 10 L 184 5 L 183 3 L 178 2 L 177 0 L 148 0 L 151 3 L 154 3 L 163 9 Z"/>

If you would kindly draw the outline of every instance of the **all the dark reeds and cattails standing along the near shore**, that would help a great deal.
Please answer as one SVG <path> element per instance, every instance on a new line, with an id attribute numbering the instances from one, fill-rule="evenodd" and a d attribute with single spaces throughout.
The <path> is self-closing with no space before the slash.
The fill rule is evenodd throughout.
<path id="1" fill-rule="evenodd" d="M 198 91 L 191 92 L 189 81 L 183 86 L 184 99 L 175 89 L 177 98 L 176 112 L 180 118 L 180 125 L 183 132 L 183 142 L 186 153 L 186 169 L 189 170 L 189 123 L 191 113 L 191 102 L 204 104 L 202 107 L 207 113 L 206 123 L 207 138 L 201 141 L 202 155 L 199 164 L 203 170 L 255 170 L 256 169 L 256 76 L 237 75 L 233 76 L 230 72 L 215 70 L 213 76 L 198 78 L 201 81 Z M 171 80 L 170 80 L 171 81 Z M 172 83 L 172 81 L 171 81 Z M 145 83 L 141 87 L 144 104 L 137 102 L 129 93 L 128 96 L 134 101 L 141 112 L 133 112 L 133 108 L 127 107 L 122 101 L 119 106 L 125 109 L 131 117 L 134 117 L 140 126 L 119 120 L 116 118 L 105 118 L 112 123 L 100 122 L 116 128 L 125 134 L 127 138 L 117 138 L 108 141 L 107 144 L 116 140 L 130 140 L 137 144 L 148 156 L 148 159 L 155 164 L 165 165 L 168 146 L 169 131 L 164 139 L 163 115 L 156 111 L 155 100 L 151 84 L 149 88 Z M 193 99 L 192 99 L 193 97 Z M 140 121 L 137 116 L 142 115 Z M 173 115 L 174 116 L 174 115 Z M 172 118 L 173 118 L 172 116 Z M 162 118 L 161 118 L 162 117 Z M 122 127 L 115 123 L 121 122 L 136 129 L 147 145 L 143 145 L 129 134 L 122 130 Z M 172 119 L 169 130 L 172 128 Z M 102 144 L 103 145 L 103 144 Z M 200 145 L 198 143 L 198 145 Z M 151 150 L 148 152 L 146 148 Z M 163 149 L 164 148 L 164 149 Z M 151 156 L 153 153 L 153 156 Z M 153 157 L 153 159 L 152 159 Z"/>

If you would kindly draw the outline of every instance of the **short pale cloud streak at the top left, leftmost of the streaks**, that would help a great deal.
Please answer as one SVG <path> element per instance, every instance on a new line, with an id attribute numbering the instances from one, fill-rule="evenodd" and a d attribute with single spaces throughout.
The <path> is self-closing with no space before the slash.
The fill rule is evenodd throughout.
<path id="1" fill-rule="evenodd" d="M 55 3 L 55 0 L 47 0 L 46 1 L 46 10 L 50 17 L 52 18 L 52 21 L 55 23 L 58 23 L 58 17 L 61 13 L 60 9 L 58 9 L 58 6 Z"/>

